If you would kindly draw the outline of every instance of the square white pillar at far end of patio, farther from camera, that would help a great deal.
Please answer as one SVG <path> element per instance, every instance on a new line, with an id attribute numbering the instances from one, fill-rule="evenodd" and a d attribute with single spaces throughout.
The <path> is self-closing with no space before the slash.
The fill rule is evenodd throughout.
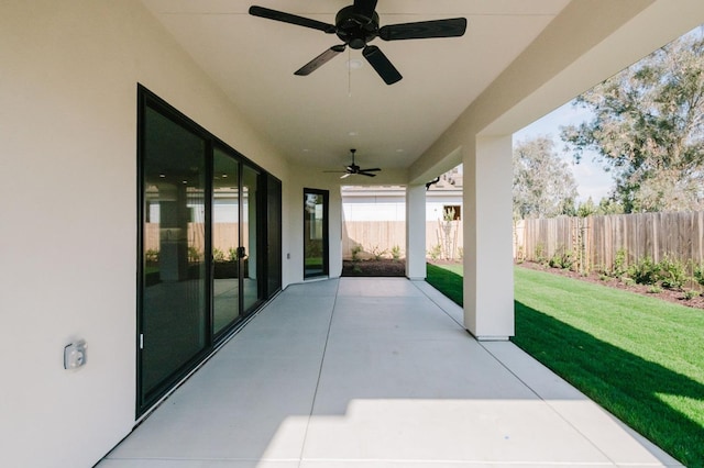
<path id="1" fill-rule="evenodd" d="M 406 276 L 426 279 L 426 186 L 406 188 Z"/>

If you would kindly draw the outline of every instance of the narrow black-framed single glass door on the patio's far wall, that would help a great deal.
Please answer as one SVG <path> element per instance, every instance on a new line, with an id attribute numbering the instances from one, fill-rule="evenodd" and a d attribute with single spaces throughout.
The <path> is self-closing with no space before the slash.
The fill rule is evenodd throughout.
<path id="1" fill-rule="evenodd" d="M 328 191 L 304 189 L 304 278 L 328 275 Z"/>

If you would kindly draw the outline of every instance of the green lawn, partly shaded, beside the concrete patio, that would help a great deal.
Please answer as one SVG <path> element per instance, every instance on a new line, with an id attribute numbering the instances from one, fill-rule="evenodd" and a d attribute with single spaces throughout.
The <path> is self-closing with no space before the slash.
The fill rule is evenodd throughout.
<path id="1" fill-rule="evenodd" d="M 441 270 L 429 265 L 428 282 L 461 303 L 461 276 Z M 515 299 L 516 345 L 684 465 L 704 466 L 701 311 L 525 268 Z"/>

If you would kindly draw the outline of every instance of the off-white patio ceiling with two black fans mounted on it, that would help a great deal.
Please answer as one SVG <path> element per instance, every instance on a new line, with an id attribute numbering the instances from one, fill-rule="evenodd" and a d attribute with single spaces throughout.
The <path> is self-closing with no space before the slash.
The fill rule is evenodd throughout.
<path id="1" fill-rule="evenodd" d="M 380 0 L 380 25 L 464 16 L 463 37 L 373 42 L 404 76 L 387 86 L 343 54 L 294 71 L 341 41 L 248 13 L 257 4 L 333 24 L 352 0 L 142 0 L 252 125 L 293 163 L 406 168 L 569 0 Z M 349 70 L 348 60 L 363 66 Z"/>

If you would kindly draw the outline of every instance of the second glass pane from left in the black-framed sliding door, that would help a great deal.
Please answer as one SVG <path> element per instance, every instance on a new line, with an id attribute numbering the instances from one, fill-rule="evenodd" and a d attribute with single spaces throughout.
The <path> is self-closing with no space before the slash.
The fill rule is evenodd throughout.
<path id="1" fill-rule="evenodd" d="M 240 164 L 216 148 L 212 171 L 212 332 L 240 316 Z"/>

